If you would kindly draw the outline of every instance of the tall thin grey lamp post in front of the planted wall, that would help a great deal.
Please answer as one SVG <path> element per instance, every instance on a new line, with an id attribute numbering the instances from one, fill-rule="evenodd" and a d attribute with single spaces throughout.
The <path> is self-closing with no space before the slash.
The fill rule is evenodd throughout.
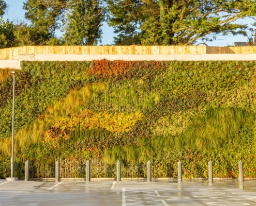
<path id="1" fill-rule="evenodd" d="M 11 139 L 11 177 L 6 178 L 7 181 L 16 181 L 19 178 L 13 176 L 14 170 L 14 156 L 13 156 L 13 147 L 14 147 L 14 98 L 15 98 L 15 71 L 11 71 L 13 75 L 13 93 L 12 93 L 12 139 Z"/>

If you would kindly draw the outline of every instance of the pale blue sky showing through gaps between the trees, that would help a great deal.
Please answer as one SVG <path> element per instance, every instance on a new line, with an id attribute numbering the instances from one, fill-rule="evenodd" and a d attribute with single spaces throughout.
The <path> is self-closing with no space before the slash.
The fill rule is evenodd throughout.
<path id="1" fill-rule="evenodd" d="M 24 19 L 25 11 L 22 9 L 23 0 L 5 0 L 6 3 L 10 6 L 8 9 L 8 13 L 4 15 L 4 19 L 9 19 L 13 21 L 15 19 Z M 253 23 L 252 20 L 246 19 L 242 20 L 246 24 Z M 113 33 L 113 28 L 109 27 L 106 23 L 102 26 L 103 35 L 102 35 L 102 43 L 101 44 L 111 44 L 113 42 L 113 37 L 115 34 Z M 247 37 L 236 36 L 236 37 L 218 37 L 216 41 L 208 42 L 208 46 L 227 46 L 233 45 L 234 42 L 247 42 Z"/>

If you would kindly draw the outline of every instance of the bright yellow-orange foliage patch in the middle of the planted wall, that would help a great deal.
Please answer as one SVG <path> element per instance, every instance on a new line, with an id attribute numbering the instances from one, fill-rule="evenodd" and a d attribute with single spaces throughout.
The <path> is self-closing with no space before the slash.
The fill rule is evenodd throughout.
<path id="1" fill-rule="evenodd" d="M 82 129 L 106 129 L 113 133 L 127 132 L 142 118 L 141 112 L 125 114 L 103 111 L 95 114 L 93 110 L 87 109 L 70 117 L 55 119 L 52 129 L 44 133 L 42 143 L 56 148 L 59 140 L 69 140 L 69 131 L 74 130 L 78 125 Z"/>

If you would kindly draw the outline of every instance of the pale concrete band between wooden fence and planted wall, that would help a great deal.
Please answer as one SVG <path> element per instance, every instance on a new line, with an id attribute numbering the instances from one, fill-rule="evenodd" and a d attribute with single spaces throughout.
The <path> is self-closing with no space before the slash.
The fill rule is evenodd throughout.
<path id="1" fill-rule="evenodd" d="M 0 68 L 20 68 L 21 61 L 250 61 L 256 54 L 201 54 L 201 55 L 18 55 L 18 60 L 0 60 Z"/>

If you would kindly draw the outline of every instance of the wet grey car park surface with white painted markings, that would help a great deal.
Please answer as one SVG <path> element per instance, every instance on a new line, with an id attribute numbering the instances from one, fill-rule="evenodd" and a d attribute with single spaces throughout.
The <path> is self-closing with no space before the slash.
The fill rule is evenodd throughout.
<path id="1" fill-rule="evenodd" d="M 207 182 L 0 180 L 0 205 L 256 205 L 256 180 Z"/>

